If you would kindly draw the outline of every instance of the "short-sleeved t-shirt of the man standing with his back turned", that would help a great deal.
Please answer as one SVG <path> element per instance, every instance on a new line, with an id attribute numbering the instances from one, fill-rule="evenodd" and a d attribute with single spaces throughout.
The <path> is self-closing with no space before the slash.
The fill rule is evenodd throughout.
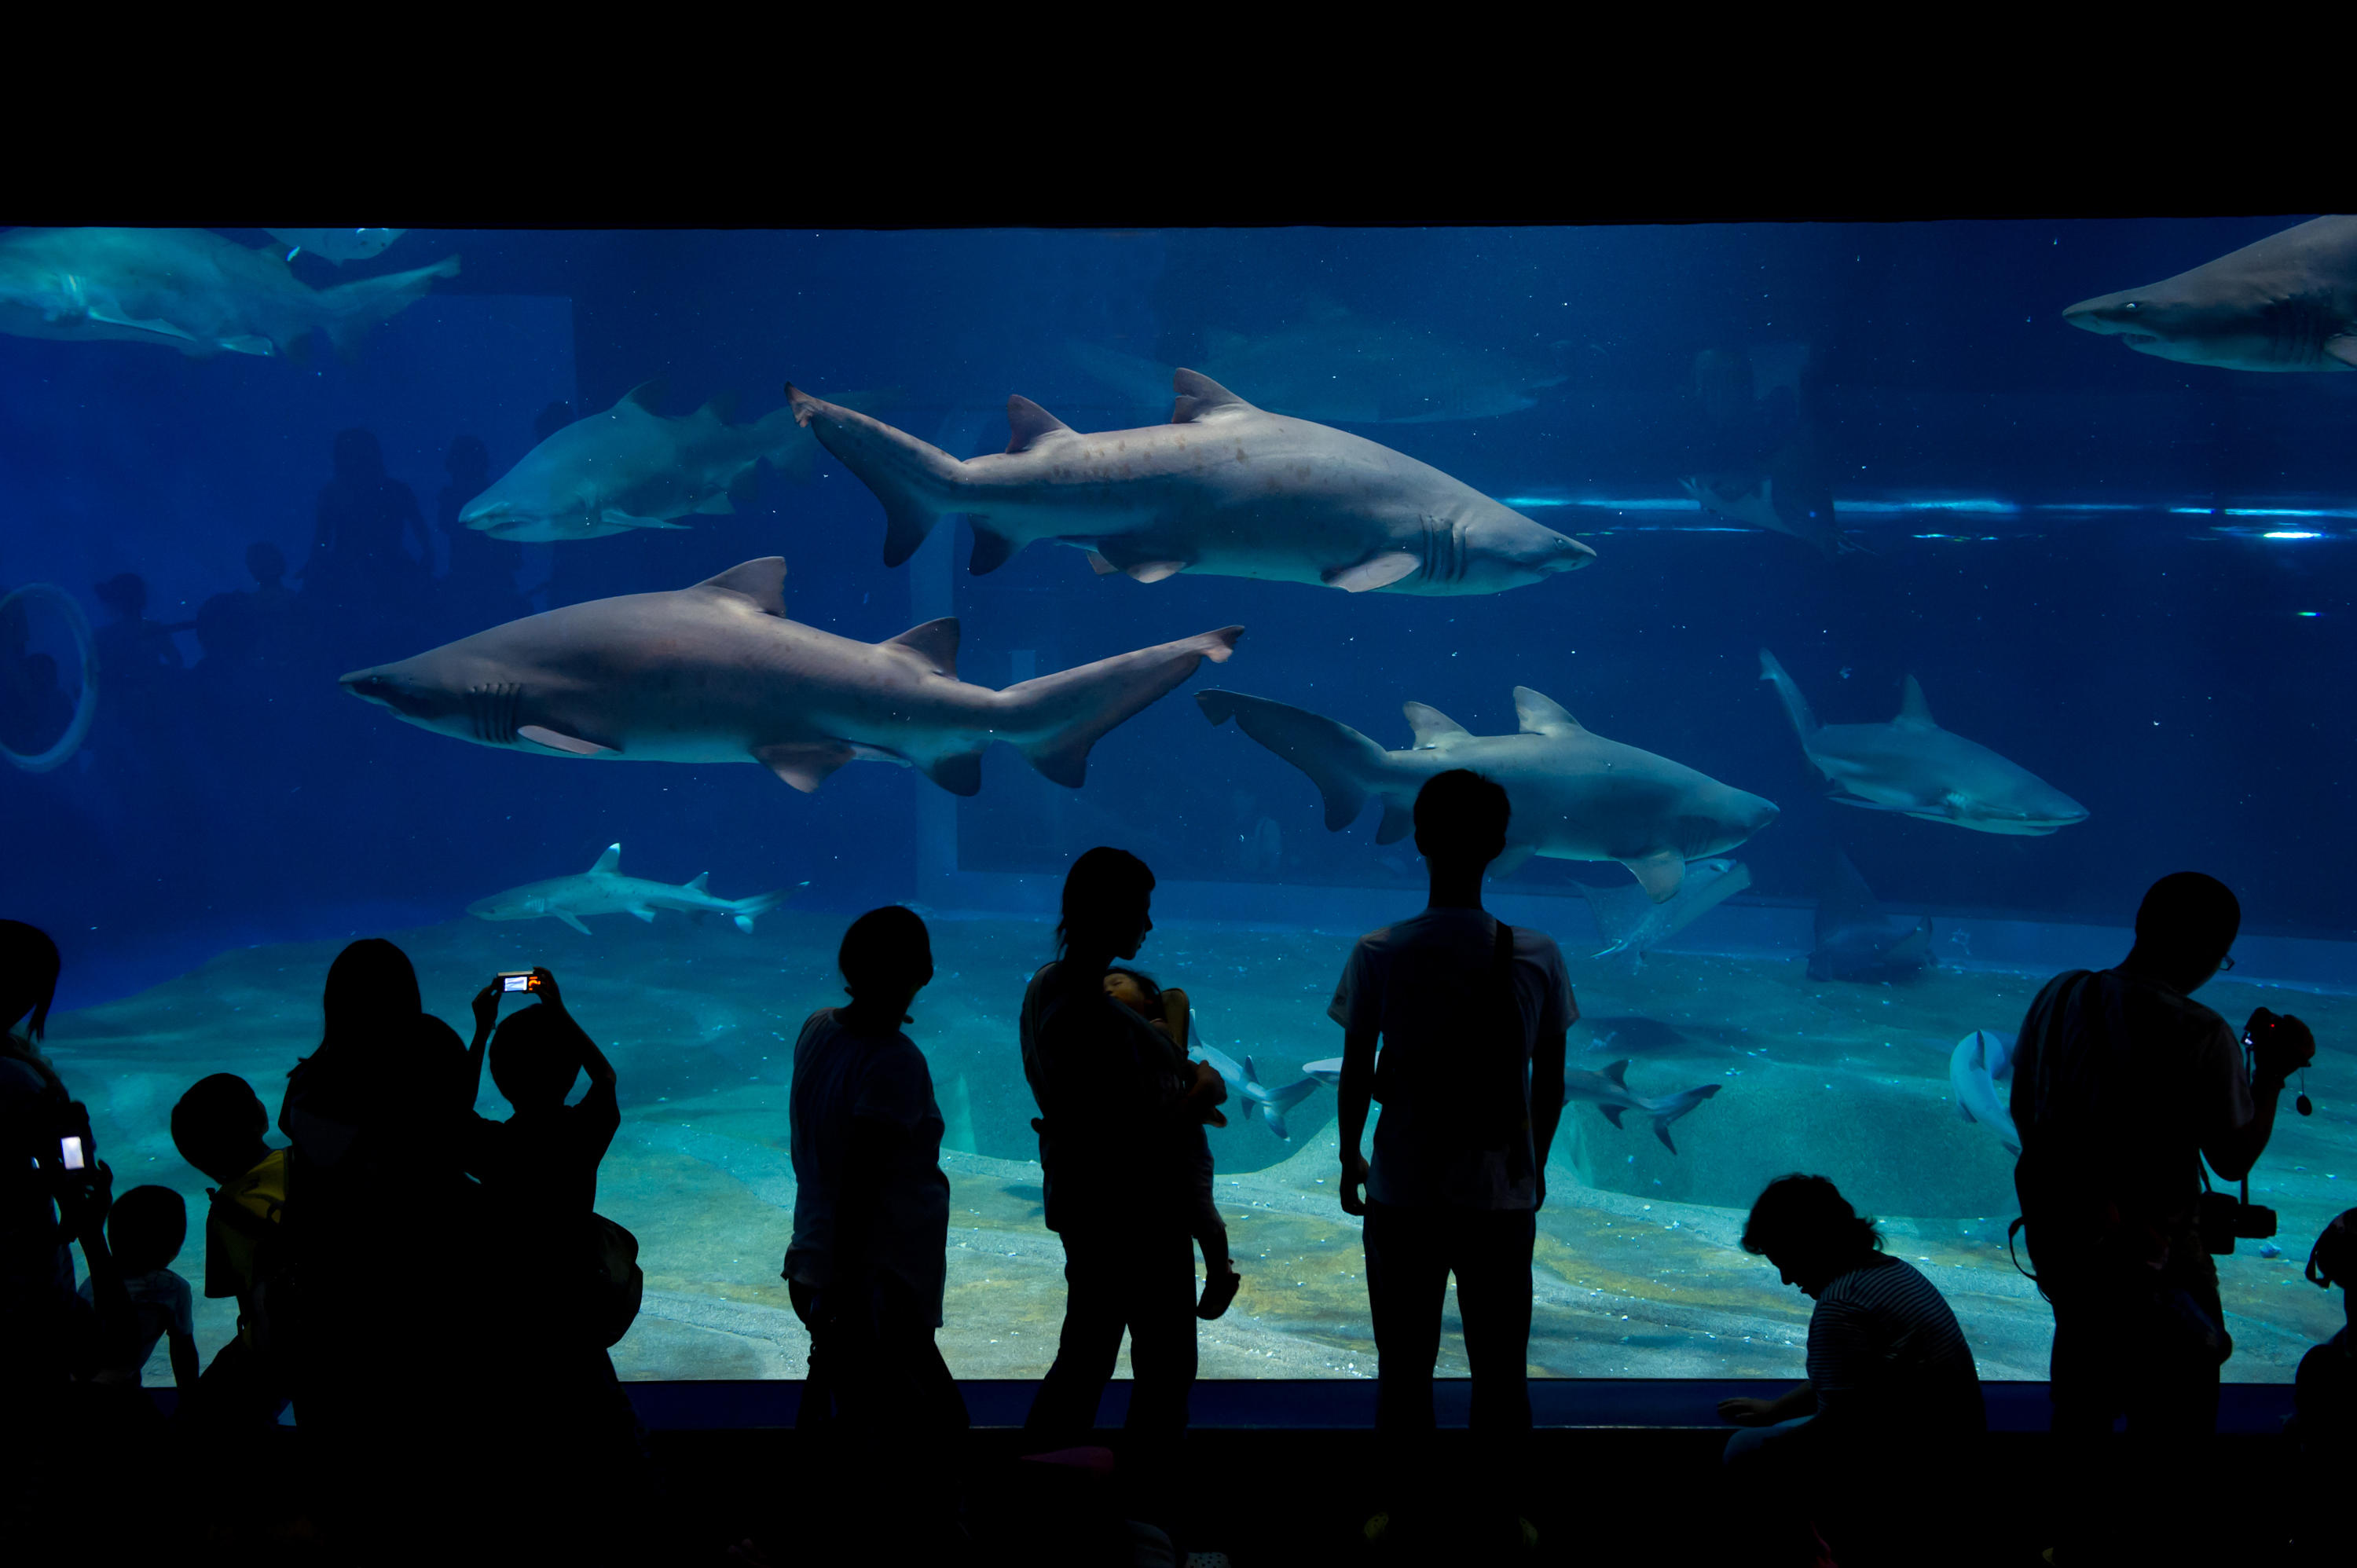
<path id="1" fill-rule="evenodd" d="M 1445 1073 L 1464 1049 L 1466 1028 L 1487 1021 L 1487 988 L 1497 964 L 1497 920 L 1483 910 L 1424 910 L 1358 938 L 1327 1016 L 1351 1033 L 1376 1030 L 1386 1052 Z M 1523 1014 L 1523 1059 L 1537 1042 L 1579 1021 L 1572 976 L 1556 938 L 1534 927 L 1513 929 L 1513 995 Z M 1367 1198 L 1398 1207 L 1534 1210 L 1539 1184 L 1534 1148 L 1513 1167 L 1501 1151 L 1457 1148 L 1421 1125 L 1447 1085 L 1393 1092 L 1374 1122 Z"/>

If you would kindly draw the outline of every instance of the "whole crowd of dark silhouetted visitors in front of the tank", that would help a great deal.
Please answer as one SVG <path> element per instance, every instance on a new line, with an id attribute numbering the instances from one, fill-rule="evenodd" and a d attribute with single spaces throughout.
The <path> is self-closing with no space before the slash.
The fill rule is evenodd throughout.
<path id="1" fill-rule="evenodd" d="M 1424 788 L 1428 905 L 1355 943 L 1329 1007 L 1343 1030 L 1339 1203 L 1362 1226 L 1379 1361 L 1384 1507 L 1353 1549 L 1388 1561 L 1539 1549 L 1532 1252 L 1579 1009 L 1556 943 L 1483 910 L 1506 821 L 1504 790 L 1475 773 Z M 278 1089 L 283 1144 L 236 1075 L 179 1096 L 172 1144 L 217 1184 L 203 1290 L 238 1302 L 236 1337 L 200 1365 L 193 1285 L 172 1271 L 189 1214 L 163 1186 L 113 1193 L 87 1113 L 38 1049 L 57 948 L 0 922 L 0 1365 L 16 1434 L 38 1438 L 14 1478 L 49 1500 L 33 1514 L 64 1521 L 42 1542 L 90 1556 L 101 1530 L 120 1556 L 148 1556 L 193 1530 L 243 1556 L 295 1533 L 332 1561 L 403 1563 L 973 1561 L 992 1544 L 1023 1561 L 1188 1561 L 1195 1325 L 1228 1309 L 1240 1276 L 1204 1141 L 1228 1085 L 1188 1056 L 1186 993 L 1129 967 L 1153 887 L 1120 849 L 1080 856 L 1056 960 L 1021 1000 L 1044 1221 L 1065 1254 L 1063 1330 L 1009 1483 L 1037 1502 L 1021 1542 L 978 1540 L 966 1405 L 933 1342 L 950 1181 L 931 1073 L 903 1033 L 933 979 L 912 910 L 851 922 L 837 955 L 849 1004 L 808 1014 L 794 1045 L 783 1280 L 811 1337 L 808 1502 L 775 1540 L 733 1547 L 667 1511 L 615 1379 L 608 1349 L 643 1283 L 636 1238 L 596 1212 L 622 1113 L 554 974 L 495 976 L 460 1040 L 424 1012 L 398 948 L 356 941 L 328 971 L 318 1047 Z M 2055 1311 L 2053 1429 L 2074 1502 L 2048 1561 L 2065 1568 L 2178 1561 L 2178 1514 L 2150 1493 L 2194 1483 L 2218 1422 L 2232 1339 L 2211 1259 L 2253 1233 L 2253 1214 L 2209 1191 L 2204 1160 L 2242 1179 L 2315 1052 L 2298 1019 L 2263 1009 L 2234 1035 L 2190 997 L 2230 967 L 2239 920 L 2216 879 L 2164 877 L 2131 955 L 2055 976 L 2022 1023 L 2018 1186 Z M 509 1000 L 521 1007 L 502 1019 Z M 504 1122 L 474 1108 L 486 1066 L 514 1108 Z M 2352 1221 L 2357 1210 L 2317 1240 L 2310 1280 L 2357 1278 Z M 1737 1427 L 1725 1561 L 1992 1561 L 1985 1535 L 1926 1533 L 1907 1509 L 1923 1485 L 1987 1467 L 1973 1351 L 1933 1278 L 1886 1254 L 1824 1177 L 1768 1184 L 1742 1247 L 1815 1309 L 1805 1382 L 1721 1405 Z M 1473 1384 L 1466 1452 L 1435 1443 L 1450 1280 Z M 1124 1339 L 1134 1384 L 1108 1450 L 1098 1405 Z M 179 1389 L 170 1419 L 139 1391 L 158 1344 Z M 2298 1372 L 2289 1462 L 2312 1485 L 2348 1476 L 2350 1391 L 2343 1330 Z M 2126 1445 L 2107 1441 L 2117 1417 Z M 153 1476 L 153 1507 L 108 1514 L 120 1476 Z"/>

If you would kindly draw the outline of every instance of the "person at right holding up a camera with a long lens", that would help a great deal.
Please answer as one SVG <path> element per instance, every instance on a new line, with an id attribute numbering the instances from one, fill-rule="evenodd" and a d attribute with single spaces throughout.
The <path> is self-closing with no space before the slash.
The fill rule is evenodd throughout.
<path id="1" fill-rule="evenodd" d="M 2058 974 L 2022 1019 L 2013 1181 L 2055 1311 L 2058 1434 L 2100 1436 L 2121 1415 L 2164 1438 L 2218 1424 L 2218 1370 L 2234 1346 L 2211 1254 L 2272 1236 L 2275 1214 L 2209 1191 L 2201 1162 L 2246 1184 L 2284 1080 L 2317 1049 L 2298 1019 L 2258 1009 L 2237 1037 L 2192 1000 L 2234 967 L 2239 929 L 2223 882 L 2161 877 L 2135 910 L 2128 957 Z"/>

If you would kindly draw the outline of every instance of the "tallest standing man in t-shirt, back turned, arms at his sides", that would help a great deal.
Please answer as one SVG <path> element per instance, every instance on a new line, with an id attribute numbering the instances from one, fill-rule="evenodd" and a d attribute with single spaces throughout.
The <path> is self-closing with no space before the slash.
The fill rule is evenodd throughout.
<path id="1" fill-rule="evenodd" d="M 1365 1217 L 1374 1419 L 1395 1495 L 1431 1485 L 1426 1434 L 1452 1273 L 1473 1427 L 1492 1448 L 1485 1481 L 1511 1483 L 1518 1434 L 1530 1431 L 1530 1247 L 1563 1118 L 1563 1040 L 1579 1007 L 1553 938 L 1480 908 L 1506 821 L 1506 790 L 1480 773 L 1452 769 L 1424 785 L 1417 849 L 1431 901 L 1358 941 L 1327 1007 L 1343 1026 L 1341 1207 Z M 1384 1118 L 1369 1165 L 1360 1139 L 1374 1099 Z M 1513 1516 L 1494 1509 L 1492 1518 Z M 1391 1518 L 1379 1514 L 1367 1528 L 1379 1537 Z"/>

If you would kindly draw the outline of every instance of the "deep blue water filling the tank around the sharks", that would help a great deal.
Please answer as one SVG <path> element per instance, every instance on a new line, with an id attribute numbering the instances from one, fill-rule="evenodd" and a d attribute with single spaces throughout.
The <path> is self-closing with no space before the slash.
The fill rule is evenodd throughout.
<path id="1" fill-rule="evenodd" d="M 1596 997 L 1593 1016 L 1673 1030 L 1591 1028 L 1574 1040 L 1586 1066 L 1636 1056 L 1645 1092 L 1690 1070 L 1730 1085 L 1681 1122 L 1678 1162 L 1643 1129 L 1624 1146 L 1591 1111 L 1567 1118 L 1584 1139 L 1565 1158 L 1593 1203 L 1565 1200 L 1551 1264 L 1541 1245 L 1560 1283 L 1560 1299 L 1541 1292 L 1541 1344 L 1560 1344 L 1534 1358 L 1598 1375 L 1782 1370 L 1796 1358 L 1789 1344 L 1756 1363 L 1725 1346 L 1744 1335 L 1765 1344 L 1770 1323 L 1794 1330 L 1798 1304 L 1723 1238 L 1699 1252 L 1688 1238 L 1718 1236 L 1765 1174 L 1808 1167 L 1860 1188 L 1862 1207 L 1935 1233 L 1954 1257 L 1923 1257 L 1975 1271 L 1956 1290 L 1980 1280 L 1994 1292 L 1985 1361 L 2036 1375 L 2036 1299 L 2001 1283 L 1978 1228 L 2011 1214 L 1999 1212 L 2001 1165 L 1994 1144 L 1966 1141 L 1982 1134 L 1945 1099 L 1945 1045 L 2013 1028 L 2041 964 L 2117 955 L 2143 887 L 2183 865 L 2239 891 L 2251 943 L 2279 943 L 2256 979 L 2322 990 L 2296 1002 L 2310 1016 L 2336 1016 L 2338 990 L 2357 983 L 2357 953 L 2341 946 L 2357 924 L 2343 828 L 2357 738 L 2338 717 L 2357 632 L 2345 455 L 2357 375 L 2173 365 L 2060 321 L 2074 299 L 2286 222 L 410 231 L 372 262 L 295 262 L 325 288 L 462 257 L 457 278 L 377 325 L 351 358 L 325 344 L 302 358 L 191 358 L 0 337 L 0 585 L 61 585 L 104 625 L 94 585 L 130 571 L 146 580 L 151 620 L 198 620 L 210 599 L 255 587 L 250 545 L 304 564 L 330 448 L 351 427 L 375 434 L 424 523 L 405 599 L 384 587 L 313 615 L 255 667 L 193 630 L 172 632 L 186 667 L 101 698 L 73 762 L 40 776 L 0 769 L 0 913 L 47 927 L 66 953 L 52 1040 L 101 1137 L 139 1148 L 146 1179 L 191 1195 L 200 1184 L 160 1125 L 174 1085 L 233 1066 L 271 1094 L 271 1063 L 292 1061 L 316 1028 L 304 1009 L 316 1009 L 335 943 L 401 934 L 431 955 L 420 960 L 429 1004 L 445 1016 L 462 1012 L 478 969 L 537 960 L 594 971 L 627 1042 L 618 1061 L 639 1137 L 625 1137 L 603 1200 L 632 1214 L 658 1276 L 622 1361 L 634 1375 L 686 1377 L 794 1368 L 799 1330 L 771 1299 L 778 1181 L 790 1184 L 775 1170 L 783 1115 L 764 1120 L 783 1054 L 764 1061 L 747 1042 L 792 1037 L 832 997 L 825 960 L 841 917 L 917 901 L 973 948 L 955 1002 L 919 1014 L 919 1045 L 936 1078 L 962 1085 L 964 1132 L 950 1120 L 973 1162 L 952 1172 L 962 1193 L 973 1188 L 966 1207 L 1009 1238 L 1004 1254 L 976 1257 L 1006 1257 L 1021 1299 L 1006 1309 L 1004 1278 L 952 1271 L 945 1344 L 973 1375 L 1021 1375 L 1028 1346 L 962 1330 L 955 1292 L 973 1292 L 969 1323 L 1009 1311 L 995 1320 L 1032 1323 L 1054 1304 L 1044 1233 L 1021 1195 L 1028 1108 L 1011 1028 L 1023 969 L 1044 957 L 1039 913 L 1061 868 L 1098 842 L 1143 854 L 1188 920 L 1183 946 L 1146 960 L 1233 1019 L 1228 1040 L 1254 1047 L 1263 1070 L 1268 1059 L 1329 1056 L 1322 997 L 1348 934 L 1417 905 L 1414 856 L 1372 842 L 1372 811 L 1327 832 L 1310 783 L 1233 726 L 1207 726 L 1190 693 L 1219 684 L 1407 745 L 1405 700 L 1504 733 L 1511 689 L 1532 686 L 1596 733 L 1782 806 L 1735 851 L 1751 889 L 1681 934 L 1671 946 L 1683 957 L 1638 976 L 1584 957 L 1600 943 L 1574 884 L 1626 884 L 1617 865 L 1541 858 L 1506 884 L 1516 920 L 1582 955 L 1574 981 Z M 453 554 L 436 521 L 453 439 L 476 436 L 497 476 L 535 446 L 552 403 L 592 415 L 653 377 L 665 377 L 669 415 L 740 391 L 735 417 L 752 420 L 783 403 L 787 377 L 818 396 L 879 394 L 879 417 L 955 455 L 1004 446 L 1009 394 L 1075 429 L 1167 417 L 1167 394 L 1141 389 L 1105 351 L 1259 368 L 1285 396 L 1412 415 L 1346 427 L 1577 535 L 1596 564 L 1454 599 L 1193 573 L 1138 585 L 1098 578 L 1056 545 L 976 578 L 971 533 L 945 523 L 907 566 L 884 568 L 879 505 L 825 455 L 806 479 L 764 469 L 733 516 L 526 545 L 488 566 L 469 554 L 474 540 Z M 1704 354 L 1716 358 L 1697 365 Z M 1737 361 L 1754 394 L 1730 415 L 1709 365 Z M 1789 384 L 1787 401 L 1772 384 Z M 1275 406 L 1240 375 L 1233 389 Z M 1834 559 L 1706 516 L 1678 486 L 1742 460 L 1747 431 L 1794 410 L 1857 545 Z M 959 670 L 988 686 L 1230 622 L 1247 632 L 1233 663 L 1098 743 L 1084 790 L 1051 785 L 999 747 L 964 802 L 886 766 L 851 766 L 799 795 L 757 766 L 495 752 L 398 724 L 335 684 L 483 630 L 483 606 L 502 597 L 523 613 L 686 587 L 766 554 L 790 564 L 787 613 L 844 637 L 877 641 L 955 613 Z M 71 672 L 71 639 L 47 611 L 31 613 L 28 634 Z M 1942 726 L 2069 792 L 2088 821 L 1992 837 L 1824 802 L 1758 681 L 1761 648 L 1827 722 L 1888 719 L 1914 674 Z M 610 842 L 634 875 L 709 870 L 724 896 L 808 887 L 752 938 L 676 915 L 655 927 L 599 917 L 592 938 L 554 922 L 464 920 L 469 901 L 587 870 Z M 1940 971 L 1798 983 L 1834 842 L 1888 908 L 1933 915 Z M 1992 953 L 2001 960 L 1985 962 Z M 1904 1040 L 1883 1040 L 1860 1012 L 1886 1000 L 1909 1014 Z M 2239 990 L 2234 1000 L 2251 1004 Z M 1742 1030 L 1754 1037 L 1737 1045 Z M 2348 1035 L 2319 1035 L 2319 1078 L 2348 1078 Z M 1657 1056 L 1629 1049 L 1636 1037 L 1655 1040 Z M 1883 1049 L 1904 1066 L 1876 1068 Z M 1751 1111 L 1737 1111 L 1747 1089 Z M 2336 1318 L 2322 1292 L 2291 1292 L 2270 1273 L 2296 1276 L 2317 1224 L 2341 1207 L 2341 1167 L 2357 1170 L 2348 1099 L 2312 1089 L 2322 1115 L 2298 1127 L 2298 1155 L 2279 1146 L 2260 1167 L 2291 1193 L 2286 1257 L 2232 1261 L 2253 1273 L 2230 1273 L 2230 1306 L 2242 1278 L 2270 1327 L 2237 1327 L 2246 1358 L 2230 1375 L 2289 1375 L 2303 1335 Z M 1815 1094 L 1838 1099 L 1805 1099 Z M 1829 1103 L 1841 1113 L 1827 1115 Z M 497 1111 L 488 1089 L 486 1108 Z M 1270 1226 L 1270 1259 L 1221 1330 L 1233 1335 L 1214 1356 L 1226 1375 L 1365 1368 L 1355 1243 L 1313 1170 L 1329 1118 L 1320 1092 L 1292 1118 L 1289 1144 L 1261 1127 L 1216 1139 L 1223 1174 L 1261 1184 L 1240 1186 L 1240 1203 L 1287 1217 L 1249 1221 Z M 1909 1158 L 1921 1148 L 1949 1153 L 1926 1174 Z M 691 1191 L 702 1198 L 676 1195 Z M 1598 1240 L 1652 1224 L 1631 1207 L 1652 1200 L 1685 1205 L 1666 1240 Z M 2305 1231 L 2293 1233 L 2293 1210 Z M 669 1261 L 665 1231 L 679 1238 Z M 1612 1250 L 1645 1264 L 1607 1266 Z M 1249 1276 L 1256 1259 L 1244 1257 Z M 1256 1294 L 1285 1261 L 1325 1290 Z M 198 1264 L 193 1250 L 181 1264 Z M 1607 1332 L 1619 1313 L 1577 1325 L 1589 1292 L 1671 1313 L 1652 1330 L 1650 1361 L 1615 1361 L 1633 1332 Z"/>

